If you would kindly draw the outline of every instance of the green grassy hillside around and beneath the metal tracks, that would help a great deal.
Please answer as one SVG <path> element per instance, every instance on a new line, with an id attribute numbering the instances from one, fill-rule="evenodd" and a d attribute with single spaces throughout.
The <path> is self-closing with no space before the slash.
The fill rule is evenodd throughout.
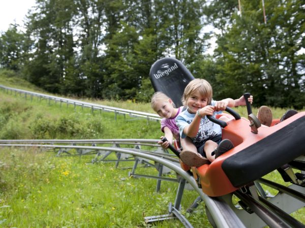
<path id="1" fill-rule="evenodd" d="M 19 80 L 19 79 L 18 79 Z M 0 73 L 0 84 L 19 89 L 37 90 L 14 77 Z M 60 107 L 45 100 L 24 99 L 0 89 L 1 139 L 94 139 L 144 138 L 161 136 L 160 123 L 135 120 L 111 112 L 95 112 L 72 105 Z M 96 101 L 109 106 L 151 112 L 149 104 L 132 101 Z M 237 107 L 247 117 L 246 107 Z M 253 108 L 256 113 L 257 109 Z M 272 108 L 274 118 L 284 109 Z M 115 159 L 114 155 L 112 158 Z M 0 226 L 1 227 L 184 227 L 178 220 L 147 225 L 145 216 L 168 213 L 174 202 L 178 184 L 162 181 L 156 193 L 156 180 L 129 178 L 132 162 L 92 164 L 93 156 L 56 157 L 52 150 L 38 148 L 0 148 Z M 157 175 L 154 168 L 138 168 L 137 172 Z M 172 173 L 170 176 L 175 177 Z M 266 178 L 283 183 L 277 171 Z M 283 183 L 288 185 L 287 183 Z M 277 194 L 269 189 L 273 195 Z M 211 227 L 205 215 L 204 203 L 196 213 L 186 209 L 197 198 L 186 190 L 181 202 L 194 227 Z M 293 213 L 305 223 L 304 208 Z"/>

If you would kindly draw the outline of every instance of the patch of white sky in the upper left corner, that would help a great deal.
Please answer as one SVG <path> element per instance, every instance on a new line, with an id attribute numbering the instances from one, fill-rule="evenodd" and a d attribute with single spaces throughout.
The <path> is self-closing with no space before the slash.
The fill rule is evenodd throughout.
<path id="1" fill-rule="evenodd" d="M 27 11 L 35 5 L 35 0 L 0 0 L 0 32 L 8 30 L 10 24 L 23 25 Z"/>

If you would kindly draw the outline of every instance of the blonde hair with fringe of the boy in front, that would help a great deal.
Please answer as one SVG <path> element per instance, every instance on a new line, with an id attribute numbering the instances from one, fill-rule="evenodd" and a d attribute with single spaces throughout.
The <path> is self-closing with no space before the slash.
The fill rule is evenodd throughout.
<path id="1" fill-rule="evenodd" d="M 185 106 L 187 106 L 187 100 L 197 90 L 199 91 L 202 97 L 208 99 L 207 104 L 211 103 L 213 96 L 213 90 L 211 85 L 204 79 L 194 79 L 187 85 L 182 95 L 181 101 Z"/>

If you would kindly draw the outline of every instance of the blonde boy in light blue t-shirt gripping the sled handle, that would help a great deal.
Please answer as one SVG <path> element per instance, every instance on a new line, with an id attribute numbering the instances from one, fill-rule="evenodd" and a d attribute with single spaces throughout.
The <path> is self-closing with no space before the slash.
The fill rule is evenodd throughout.
<path id="1" fill-rule="evenodd" d="M 176 117 L 181 139 L 191 138 L 195 149 L 184 149 L 180 154 L 182 162 L 189 166 L 201 166 L 214 161 L 218 156 L 233 148 L 230 140 L 222 140 L 222 130 L 218 124 L 207 119 L 215 111 L 225 110 L 227 106 L 246 105 L 245 98 L 233 100 L 226 98 L 220 101 L 212 100 L 212 87 L 204 79 L 191 81 L 182 96 L 182 102 L 187 109 Z M 250 103 L 253 97 L 248 99 Z M 223 121 L 228 121 L 226 117 Z M 207 161 L 206 158 L 209 160 Z"/>

